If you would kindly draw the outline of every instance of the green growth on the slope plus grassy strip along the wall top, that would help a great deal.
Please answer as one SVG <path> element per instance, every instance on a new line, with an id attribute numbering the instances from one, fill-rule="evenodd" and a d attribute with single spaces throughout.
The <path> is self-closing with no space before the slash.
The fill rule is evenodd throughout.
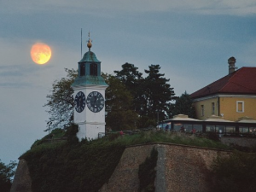
<path id="1" fill-rule="evenodd" d="M 67 140 L 44 143 L 44 139 L 49 138 L 46 136 L 20 157 L 27 161 L 32 177 L 32 191 L 97 191 L 104 183 L 108 183 L 125 147 L 130 145 L 164 142 L 229 149 L 207 138 L 166 131 L 141 131 L 124 136 L 118 132 L 80 143 L 75 137 L 76 132 L 75 125 L 67 131 L 56 130 L 53 132 L 55 136 L 51 134 L 52 137 L 59 135 L 67 137 Z M 218 171 L 218 164 L 215 167 Z"/>

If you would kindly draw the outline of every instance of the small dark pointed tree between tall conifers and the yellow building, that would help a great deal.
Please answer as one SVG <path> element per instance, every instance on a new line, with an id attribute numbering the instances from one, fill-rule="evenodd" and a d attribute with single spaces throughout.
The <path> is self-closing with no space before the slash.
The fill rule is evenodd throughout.
<path id="1" fill-rule="evenodd" d="M 190 118 L 195 118 L 195 108 L 192 99 L 186 91 L 176 99 L 172 115 L 177 114 L 187 114 Z"/>

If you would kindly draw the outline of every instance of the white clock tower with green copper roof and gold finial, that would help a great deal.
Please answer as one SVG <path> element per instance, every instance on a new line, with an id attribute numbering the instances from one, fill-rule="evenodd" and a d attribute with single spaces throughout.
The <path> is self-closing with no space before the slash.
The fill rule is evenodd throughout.
<path id="1" fill-rule="evenodd" d="M 108 84 L 101 76 L 101 61 L 90 51 L 92 44 L 89 37 L 89 51 L 79 61 L 79 76 L 74 80 L 74 115 L 73 122 L 79 125 L 77 137 L 96 139 L 105 134 L 105 90 Z"/>

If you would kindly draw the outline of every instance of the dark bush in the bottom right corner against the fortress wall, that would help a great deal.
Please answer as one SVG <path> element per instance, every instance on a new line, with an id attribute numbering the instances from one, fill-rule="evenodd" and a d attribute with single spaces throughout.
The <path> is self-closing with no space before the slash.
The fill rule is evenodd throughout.
<path id="1" fill-rule="evenodd" d="M 256 191 L 256 154 L 235 151 L 218 157 L 212 170 L 217 179 L 215 191 Z"/>

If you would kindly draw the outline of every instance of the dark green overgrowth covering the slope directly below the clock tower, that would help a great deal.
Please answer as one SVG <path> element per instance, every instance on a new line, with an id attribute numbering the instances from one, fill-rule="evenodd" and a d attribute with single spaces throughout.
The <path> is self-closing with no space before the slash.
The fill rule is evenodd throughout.
<path id="1" fill-rule="evenodd" d="M 124 150 L 106 139 L 44 143 L 20 158 L 27 161 L 34 192 L 92 192 L 108 182 Z"/>

